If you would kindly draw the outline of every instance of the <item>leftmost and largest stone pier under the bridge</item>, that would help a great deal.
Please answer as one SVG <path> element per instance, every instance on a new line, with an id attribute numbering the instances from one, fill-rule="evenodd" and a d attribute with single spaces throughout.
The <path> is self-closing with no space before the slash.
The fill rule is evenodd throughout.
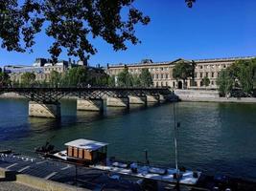
<path id="1" fill-rule="evenodd" d="M 29 117 L 60 117 L 60 103 L 37 103 L 35 101 L 29 102 Z"/>

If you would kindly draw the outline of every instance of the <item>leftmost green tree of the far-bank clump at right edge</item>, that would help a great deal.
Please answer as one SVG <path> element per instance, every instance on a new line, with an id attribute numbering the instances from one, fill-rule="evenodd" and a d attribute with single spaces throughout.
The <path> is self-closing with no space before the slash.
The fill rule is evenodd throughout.
<path id="1" fill-rule="evenodd" d="M 231 92 L 235 84 L 235 77 L 232 70 L 229 68 L 221 70 L 217 79 L 217 85 L 219 86 L 219 92 L 221 96 L 226 96 Z"/>

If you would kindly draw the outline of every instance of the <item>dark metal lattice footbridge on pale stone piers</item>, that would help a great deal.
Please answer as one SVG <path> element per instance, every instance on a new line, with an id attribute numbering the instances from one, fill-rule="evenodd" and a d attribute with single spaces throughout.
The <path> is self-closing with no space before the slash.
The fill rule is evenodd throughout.
<path id="1" fill-rule="evenodd" d="M 129 104 L 165 102 L 175 97 L 168 88 L 0 88 L 0 94 L 4 93 L 27 97 L 31 117 L 60 117 L 59 100 L 64 96 L 76 97 L 78 110 L 99 112 L 103 111 L 104 100 L 108 107 L 128 107 Z"/>

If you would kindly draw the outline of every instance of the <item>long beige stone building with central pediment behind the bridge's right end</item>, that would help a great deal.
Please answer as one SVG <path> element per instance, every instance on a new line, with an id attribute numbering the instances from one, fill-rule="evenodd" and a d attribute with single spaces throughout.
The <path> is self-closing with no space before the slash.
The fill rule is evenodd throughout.
<path id="1" fill-rule="evenodd" d="M 207 87 L 207 89 L 216 89 L 216 81 L 222 69 L 227 68 L 237 60 L 251 58 L 255 57 L 247 56 L 198 60 L 184 60 L 179 58 L 174 61 L 165 62 L 152 62 L 151 59 L 144 59 L 140 63 L 134 64 L 108 64 L 106 73 L 111 76 L 117 76 L 120 72 L 122 72 L 125 69 L 125 67 L 127 67 L 128 72 L 130 74 L 140 74 L 142 69 L 148 69 L 149 72 L 151 73 L 154 87 L 171 87 L 179 89 L 182 89 L 184 87 L 190 89 L 205 88 L 202 85 L 202 78 L 206 76 L 210 79 L 210 85 Z M 194 83 L 192 79 L 188 79 L 185 82 L 186 84 L 183 84 L 182 80 L 175 80 L 175 78 L 173 77 L 173 69 L 175 67 L 175 64 L 177 64 L 178 62 L 192 63 L 192 61 L 196 63 Z"/>

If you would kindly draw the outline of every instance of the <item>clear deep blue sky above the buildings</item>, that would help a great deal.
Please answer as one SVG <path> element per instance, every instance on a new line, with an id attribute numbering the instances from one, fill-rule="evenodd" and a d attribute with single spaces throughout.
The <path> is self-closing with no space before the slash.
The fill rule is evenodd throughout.
<path id="1" fill-rule="evenodd" d="M 114 52 L 110 45 L 97 39 L 98 49 L 90 65 L 134 63 L 143 58 L 153 61 L 217 58 L 256 55 L 255 0 L 197 0 L 188 9 L 184 0 L 135 0 L 135 7 L 151 17 L 148 26 L 137 26 L 142 44 L 128 43 L 125 52 Z M 0 66 L 31 65 L 35 57 L 50 57 L 52 40 L 45 34 L 36 36 L 34 53 L 8 53 L 0 49 Z M 62 53 L 60 59 L 68 59 Z"/>

